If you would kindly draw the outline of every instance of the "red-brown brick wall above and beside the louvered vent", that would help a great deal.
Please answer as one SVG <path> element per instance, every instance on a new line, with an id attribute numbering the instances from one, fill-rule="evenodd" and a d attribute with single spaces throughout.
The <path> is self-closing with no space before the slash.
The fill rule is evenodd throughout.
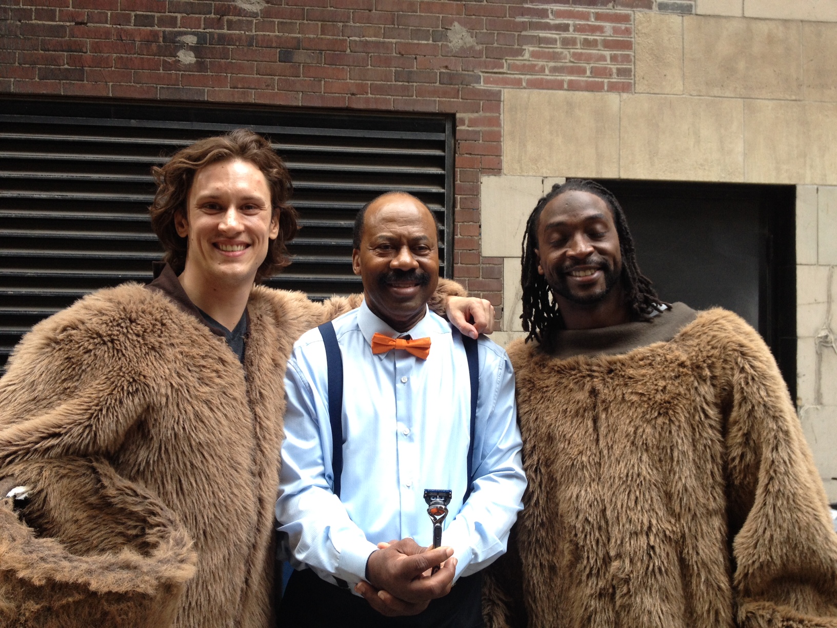
<path id="1" fill-rule="evenodd" d="M 637 10 L 694 0 L 0 0 L 0 92 L 455 114 L 454 275 L 500 306 L 502 90 L 633 91 Z"/>

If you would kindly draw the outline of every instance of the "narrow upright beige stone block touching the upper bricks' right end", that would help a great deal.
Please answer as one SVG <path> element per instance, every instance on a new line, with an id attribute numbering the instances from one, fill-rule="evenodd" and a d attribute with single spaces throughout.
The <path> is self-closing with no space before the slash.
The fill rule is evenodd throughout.
<path id="1" fill-rule="evenodd" d="M 634 13 L 634 68 L 637 93 L 683 93 L 682 16 Z"/>

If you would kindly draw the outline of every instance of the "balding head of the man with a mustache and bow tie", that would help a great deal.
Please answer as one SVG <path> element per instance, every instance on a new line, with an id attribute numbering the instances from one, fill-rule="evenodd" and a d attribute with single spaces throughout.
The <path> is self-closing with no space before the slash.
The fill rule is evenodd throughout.
<path id="1" fill-rule="evenodd" d="M 439 284 L 439 240 L 430 210 L 407 194 L 388 194 L 367 208 L 352 268 L 367 306 L 397 332 L 424 317 Z"/>

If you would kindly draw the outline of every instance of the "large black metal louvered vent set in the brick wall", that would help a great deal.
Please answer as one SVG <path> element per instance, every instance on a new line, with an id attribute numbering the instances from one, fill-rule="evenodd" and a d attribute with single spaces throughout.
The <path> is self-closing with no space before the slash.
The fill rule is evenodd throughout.
<path id="1" fill-rule="evenodd" d="M 352 224 L 388 190 L 421 198 L 453 263 L 449 117 L 0 99 L 0 369 L 34 323 L 80 296 L 151 280 L 162 249 L 147 207 L 151 166 L 202 137 L 270 136 L 294 181 L 294 263 L 268 285 L 321 298 L 361 291 Z"/>

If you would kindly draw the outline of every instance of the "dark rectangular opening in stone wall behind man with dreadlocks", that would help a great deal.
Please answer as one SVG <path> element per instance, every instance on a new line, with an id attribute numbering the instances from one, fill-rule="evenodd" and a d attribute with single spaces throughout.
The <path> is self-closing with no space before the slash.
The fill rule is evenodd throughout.
<path id="1" fill-rule="evenodd" d="M 796 189 L 602 180 L 664 301 L 732 310 L 768 343 L 796 397 Z"/>

